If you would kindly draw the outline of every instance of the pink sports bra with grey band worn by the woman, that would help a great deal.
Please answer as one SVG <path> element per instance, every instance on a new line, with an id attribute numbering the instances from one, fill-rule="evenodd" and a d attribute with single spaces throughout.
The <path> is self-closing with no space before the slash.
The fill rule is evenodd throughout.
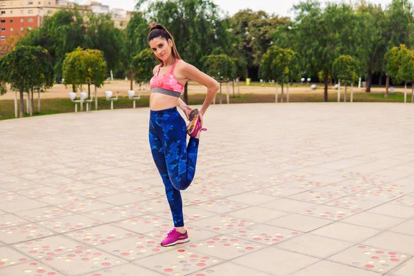
<path id="1" fill-rule="evenodd" d="M 157 92 L 179 98 L 184 86 L 177 81 L 174 75 L 174 68 L 178 61 L 179 59 L 177 59 L 175 63 L 172 64 L 171 68 L 162 76 L 159 76 L 158 74 L 163 63 L 158 66 L 157 75 L 154 75 L 150 80 L 151 93 Z"/>

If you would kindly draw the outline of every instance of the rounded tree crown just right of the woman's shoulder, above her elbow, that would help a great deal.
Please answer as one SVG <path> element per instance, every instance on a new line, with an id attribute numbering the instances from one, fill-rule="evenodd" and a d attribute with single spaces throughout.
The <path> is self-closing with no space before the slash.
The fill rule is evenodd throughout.
<path id="1" fill-rule="evenodd" d="M 228 55 L 209 55 L 201 59 L 203 70 L 207 75 L 217 80 L 233 79 L 236 76 L 236 66 Z"/>

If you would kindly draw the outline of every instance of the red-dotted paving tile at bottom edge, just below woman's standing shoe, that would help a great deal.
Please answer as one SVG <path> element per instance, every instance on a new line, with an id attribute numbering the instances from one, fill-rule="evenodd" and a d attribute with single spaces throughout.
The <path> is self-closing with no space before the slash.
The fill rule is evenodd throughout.
<path id="1" fill-rule="evenodd" d="M 132 262 L 166 275 L 190 274 L 220 263 L 221 260 L 216 257 L 184 248 L 176 248 Z"/>

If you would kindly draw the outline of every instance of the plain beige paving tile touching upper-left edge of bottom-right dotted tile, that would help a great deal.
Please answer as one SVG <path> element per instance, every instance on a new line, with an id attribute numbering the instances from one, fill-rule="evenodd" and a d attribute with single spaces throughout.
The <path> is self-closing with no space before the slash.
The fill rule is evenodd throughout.
<path id="1" fill-rule="evenodd" d="M 276 245 L 277 248 L 318 257 L 320 259 L 325 259 L 326 257 L 342 251 L 349 246 L 352 246 L 349 242 L 343 242 L 337 239 L 331 239 L 309 233 Z"/>

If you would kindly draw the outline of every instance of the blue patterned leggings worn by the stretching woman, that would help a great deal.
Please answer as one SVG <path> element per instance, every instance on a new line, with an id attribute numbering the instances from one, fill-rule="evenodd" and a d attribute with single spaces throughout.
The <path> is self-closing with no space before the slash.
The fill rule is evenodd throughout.
<path id="1" fill-rule="evenodd" d="M 186 190 L 193 181 L 199 139 L 190 138 L 187 146 L 186 121 L 176 107 L 150 111 L 149 138 L 152 157 L 166 187 L 174 226 L 184 226 L 179 190 Z"/>

